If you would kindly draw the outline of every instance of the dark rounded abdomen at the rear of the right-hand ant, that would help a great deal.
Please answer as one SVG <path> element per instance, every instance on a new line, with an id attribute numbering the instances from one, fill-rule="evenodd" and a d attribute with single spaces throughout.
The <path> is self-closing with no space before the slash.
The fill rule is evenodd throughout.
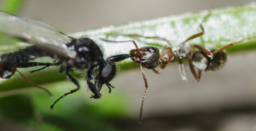
<path id="1" fill-rule="evenodd" d="M 215 50 L 211 50 L 211 51 L 214 52 Z M 226 62 L 226 59 L 227 59 L 227 55 L 224 51 L 215 53 L 211 57 L 211 61 L 209 62 L 209 66 L 208 66 L 207 70 L 214 71 L 214 70 L 218 70 L 218 69 L 222 68 Z"/>

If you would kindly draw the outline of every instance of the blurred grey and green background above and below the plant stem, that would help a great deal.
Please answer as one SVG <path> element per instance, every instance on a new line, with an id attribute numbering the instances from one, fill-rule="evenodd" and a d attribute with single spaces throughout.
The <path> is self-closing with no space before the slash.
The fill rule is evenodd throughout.
<path id="1" fill-rule="evenodd" d="M 78 32 L 129 21 L 242 5 L 251 1 L 64 1 L 0 0 L 0 9 L 45 22 L 62 32 Z M 0 130 L 256 130 L 256 53 L 231 55 L 224 69 L 202 74 L 198 84 L 189 68 L 180 79 L 177 66 L 160 75 L 145 70 L 150 89 L 138 124 L 144 82 L 139 68 L 118 73 L 111 94 L 89 99 L 86 82 L 54 110 L 47 94 L 37 88 L 0 96 Z M 44 85 L 47 87 L 47 84 Z M 55 98 L 69 92 L 68 81 L 50 84 Z M 15 94 L 10 92 L 11 94 Z"/>

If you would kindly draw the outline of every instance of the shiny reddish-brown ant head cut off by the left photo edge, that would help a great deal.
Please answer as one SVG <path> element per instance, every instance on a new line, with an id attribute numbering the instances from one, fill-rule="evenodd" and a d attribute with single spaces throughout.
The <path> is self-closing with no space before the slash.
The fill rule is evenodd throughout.
<path id="1" fill-rule="evenodd" d="M 0 77 L 2 79 L 8 79 L 14 75 L 16 72 L 16 67 L 4 67 L 2 63 L 0 63 Z"/>

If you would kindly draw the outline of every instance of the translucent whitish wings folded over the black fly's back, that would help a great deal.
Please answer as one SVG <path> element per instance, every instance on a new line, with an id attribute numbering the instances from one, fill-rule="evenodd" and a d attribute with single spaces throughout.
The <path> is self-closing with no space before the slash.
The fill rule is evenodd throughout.
<path id="1" fill-rule="evenodd" d="M 65 45 L 73 38 L 43 22 L 25 19 L 0 10 L 0 32 L 67 58 L 76 57 L 76 52 L 69 50 Z"/>

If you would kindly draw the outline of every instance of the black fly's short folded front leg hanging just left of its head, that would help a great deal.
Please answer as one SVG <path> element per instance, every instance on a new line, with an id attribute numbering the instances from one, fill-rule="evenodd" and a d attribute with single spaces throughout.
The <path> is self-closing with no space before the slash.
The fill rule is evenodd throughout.
<path id="1" fill-rule="evenodd" d="M 92 91 L 94 93 L 94 96 L 92 95 L 92 97 L 90 98 L 94 98 L 94 99 L 97 99 L 97 98 L 100 98 L 101 94 L 100 92 L 97 90 L 96 88 L 96 84 L 94 85 L 90 80 L 92 80 L 92 75 L 94 74 L 94 71 L 93 69 L 89 69 L 87 71 L 87 85 L 88 85 L 88 88 L 90 89 L 90 91 Z M 100 89 L 101 90 L 101 86 L 100 85 Z"/>

